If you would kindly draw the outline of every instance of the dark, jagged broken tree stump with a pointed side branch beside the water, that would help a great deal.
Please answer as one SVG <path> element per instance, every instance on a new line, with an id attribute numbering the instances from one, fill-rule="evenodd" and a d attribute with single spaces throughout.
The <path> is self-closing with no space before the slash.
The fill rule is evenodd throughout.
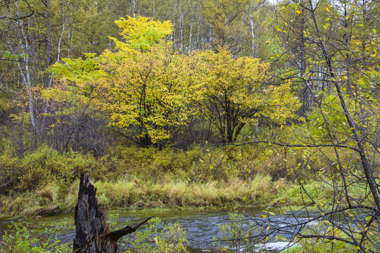
<path id="1" fill-rule="evenodd" d="M 75 206 L 75 240 L 74 252 L 77 253 L 115 253 L 118 240 L 133 233 L 145 221 L 135 226 L 125 226 L 110 232 L 106 214 L 101 211 L 96 200 L 96 188 L 90 183 L 88 174 L 80 175 L 78 202 Z"/>

